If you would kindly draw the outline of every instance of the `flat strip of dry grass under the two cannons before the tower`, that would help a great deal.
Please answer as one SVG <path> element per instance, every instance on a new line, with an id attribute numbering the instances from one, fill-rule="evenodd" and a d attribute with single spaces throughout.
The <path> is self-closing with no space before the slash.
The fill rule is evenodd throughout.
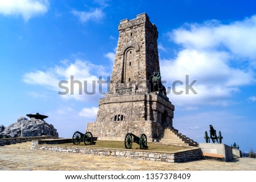
<path id="1" fill-rule="evenodd" d="M 63 143 L 58 144 L 62 146 L 72 146 L 72 147 L 90 147 L 90 148 L 104 148 L 104 149 L 118 149 L 123 150 L 125 148 L 125 142 L 123 141 L 96 141 L 95 145 L 84 145 L 84 142 L 81 142 L 79 145 L 74 145 L 73 143 Z M 180 150 L 191 149 L 189 147 L 183 146 L 174 146 L 174 145 L 163 145 L 161 143 L 147 143 L 148 149 L 141 150 L 137 143 L 133 142 L 131 150 L 141 150 L 141 151 L 157 151 L 157 152 L 167 152 L 174 153 Z"/>

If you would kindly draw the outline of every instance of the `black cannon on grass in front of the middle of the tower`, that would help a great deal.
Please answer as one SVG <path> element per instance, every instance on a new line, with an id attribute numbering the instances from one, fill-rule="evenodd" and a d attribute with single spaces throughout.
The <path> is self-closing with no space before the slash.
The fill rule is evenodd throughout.
<path id="1" fill-rule="evenodd" d="M 135 136 L 133 133 L 127 133 L 125 136 L 125 148 L 131 149 L 133 142 L 137 143 L 141 149 L 147 149 L 147 136 L 142 134 L 141 137 Z"/>

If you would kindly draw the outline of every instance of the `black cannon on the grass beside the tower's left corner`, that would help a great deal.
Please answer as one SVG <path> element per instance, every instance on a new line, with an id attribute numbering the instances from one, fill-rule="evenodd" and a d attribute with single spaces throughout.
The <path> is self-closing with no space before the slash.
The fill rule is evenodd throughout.
<path id="1" fill-rule="evenodd" d="M 84 141 L 85 145 L 93 145 L 96 142 L 93 141 L 92 133 L 86 132 L 85 134 L 76 131 L 73 134 L 72 141 L 75 145 L 79 145 L 81 141 Z"/>

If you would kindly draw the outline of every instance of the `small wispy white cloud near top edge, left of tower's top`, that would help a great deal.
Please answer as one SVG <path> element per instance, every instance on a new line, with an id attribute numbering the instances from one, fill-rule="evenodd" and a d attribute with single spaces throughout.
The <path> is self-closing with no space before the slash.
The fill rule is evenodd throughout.
<path id="1" fill-rule="evenodd" d="M 97 8 L 92 11 L 73 10 L 72 14 L 77 16 L 79 18 L 80 22 L 82 22 L 82 23 L 86 23 L 89 20 L 98 22 L 105 16 L 104 12 L 101 9 L 97 9 Z"/>

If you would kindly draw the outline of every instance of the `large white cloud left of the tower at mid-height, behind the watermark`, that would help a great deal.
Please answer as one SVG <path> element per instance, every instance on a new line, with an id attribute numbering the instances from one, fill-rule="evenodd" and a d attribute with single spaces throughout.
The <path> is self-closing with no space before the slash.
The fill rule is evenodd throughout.
<path id="1" fill-rule="evenodd" d="M 100 91 L 107 92 L 107 85 L 104 83 L 100 88 L 97 82 L 101 75 L 109 76 L 104 66 L 77 59 L 73 63 L 62 61 L 60 66 L 51 67 L 46 71 L 26 73 L 23 75 L 23 81 L 47 87 L 65 99 L 90 101 L 100 98 Z"/>

